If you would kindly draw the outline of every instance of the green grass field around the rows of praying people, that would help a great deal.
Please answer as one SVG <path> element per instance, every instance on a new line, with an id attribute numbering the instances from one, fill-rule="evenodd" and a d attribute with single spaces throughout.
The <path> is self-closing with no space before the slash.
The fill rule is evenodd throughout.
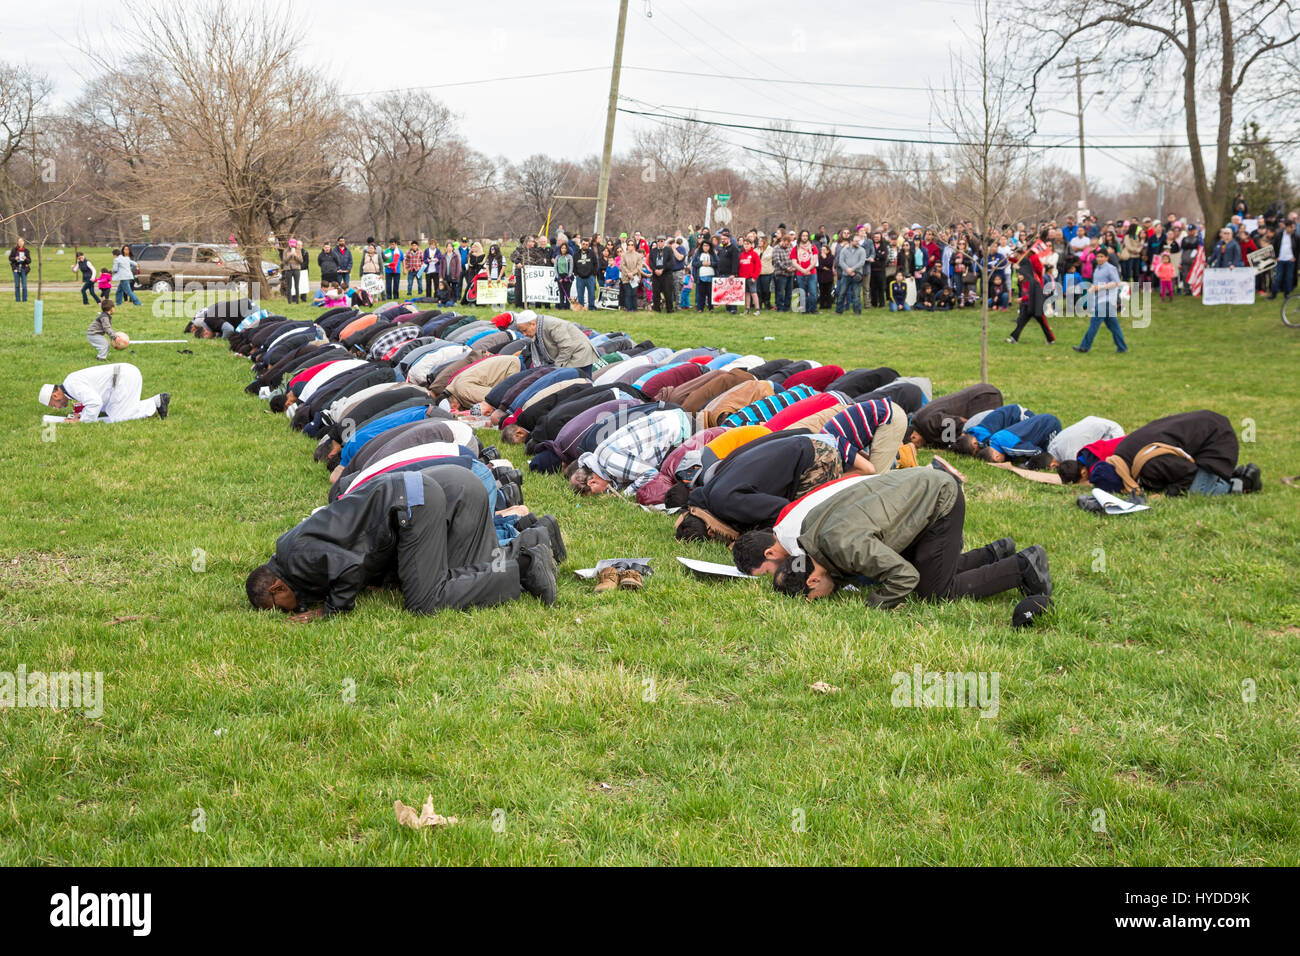
<path id="1" fill-rule="evenodd" d="M 178 338 L 185 319 L 144 298 L 116 325 Z M 49 295 L 32 338 L 30 304 L 0 304 L 0 670 L 105 683 L 98 719 L 0 710 L 0 864 L 1300 864 L 1300 488 L 1279 481 L 1300 472 L 1300 332 L 1275 304 L 1157 306 L 1128 355 L 1105 333 L 1072 352 L 1082 320 L 1052 349 L 1032 330 L 1008 346 L 996 317 L 1008 401 L 1130 428 L 1216 408 L 1253 423 L 1243 459 L 1265 477 L 1102 520 L 963 462 L 968 542 L 1050 554 L 1057 611 L 1028 631 L 1011 596 L 883 613 L 698 581 L 675 555 L 725 549 L 677 546 L 670 518 L 556 476 L 525 481 L 569 541 L 555 609 L 412 618 L 369 592 L 339 620 L 255 614 L 244 575 L 326 476 L 243 393 L 247 362 L 138 346 L 121 358 L 172 416 L 44 441 L 36 389 L 92 364 L 91 313 Z M 966 313 L 585 317 L 890 364 L 936 392 L 979 377 Z M 656 574 L 603 597 L 571 574 L 614 555 Z M 892 675 L 918 665 L 996 671 L 997 715 L 892 706 Z M 426 795 L 460 822 L 400 829 L 393 801 Z"/>

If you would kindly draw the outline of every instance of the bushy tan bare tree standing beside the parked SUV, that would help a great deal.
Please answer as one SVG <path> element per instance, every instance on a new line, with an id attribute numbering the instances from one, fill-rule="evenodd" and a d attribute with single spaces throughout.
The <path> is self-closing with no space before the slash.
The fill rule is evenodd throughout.
<path id="1" fill-rule="evenodd" d="M 268 233 L 295 228 L 341 182 L 337 98 L 299 62 L 292 10 L 129 0 L 125 16 L 150 43 L 125 62 L 96 61 L 110 88 L 134 98 L 131 125 L 151 129 L 139 152 L 127 124 L 105 129 L 122 161 L 120 203 L 156 203 L 181 222 L 220 209 L 260 286 Z"/>

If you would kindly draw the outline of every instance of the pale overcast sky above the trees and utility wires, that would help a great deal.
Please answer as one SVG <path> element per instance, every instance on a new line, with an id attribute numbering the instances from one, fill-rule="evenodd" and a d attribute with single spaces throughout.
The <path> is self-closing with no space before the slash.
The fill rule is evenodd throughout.
<path id="1" fill-rule="evenodd" d="M 441 99 L 460 113 L 465 139 L 493 156 L 598 153 L 618 0 L 491 0 L 482 5 L 484 16 L 478 9 L 473 3 L 441 0 L 422 5 L 312 0 L 296 7 L 306 56 L 328 69 L 347 94 L 429 86 L 412 95 Z M 952 53 L 967 43 L 962 30 L 971 10 L 968 0 L 630 0 L 621 105 L 696 111 L 702 118 L 758 126 L 777 118 L 807 129 L 941 139 L 928 90 L 950 83 Z M 68 99 L 90 69 L 78 51 L 82 31 L 98 44 L 146 40 L 131 36 L 127 27 L 129 18 L 112 4 L 10 4 L 0 20 L 0 59 L 44 70 L 56 79 L 60 98 Z M 1014 35 L 1005 38 L 1008 51 L 1014 46 Z M 550 75 L 485 82 L 521 74 Z M 1052 87 L 1060 94 L 1043 105 L 1072 111 L 1072 82 L 1054 79 Z M 1101 78 L 1086 81 L 1086 95 L 1101 90 Z M 1140 151 L 1105 151 L 1106 144 L 1158 142 L 1162 134 L 1170 142 L 1186 140 L 1178 114 L 1164 126 L 1135 124 L 1136 95 L 1092 98 L 1087 138 L 1098 148 L 1088 151 L 1091 182 L 1121 185 L 1131 174 L 1126 164 L 1141 164 Z M 355 101 L 348 96 L 341 105 L 347 109 Z M 634 129 L 645 122 L 620 113 L 615 148 L 630 146 Z M 1040 143 L 1076 142 L 1072 112 L 1044 113 L 1039 126 Z M 755 146 L 762 139 L 753 131 L 720 131 L 736 144 Z M 845 143 L 849 151 L 885 147 Z M 1075 148 L 1052 155 L 1078 169 Z"/>

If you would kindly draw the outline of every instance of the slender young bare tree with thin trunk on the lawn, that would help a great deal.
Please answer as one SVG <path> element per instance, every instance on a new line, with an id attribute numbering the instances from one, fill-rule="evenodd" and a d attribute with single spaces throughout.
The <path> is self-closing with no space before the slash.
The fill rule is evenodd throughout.
<path id="1" fill-rule="evenodd" d="M 1009 215 L 1014 186 L 1023 178 L 1026 164 L 1024 129 L 1019 109 L 1018 88 L 1005 72 L 998 56 L 988 0 L 976 0 L 974 26 L 968 34 L 970 51 L 953 52 L 953 90 L 966 95 L 932 95 L 935 112 L 952 134 L 949 147 L 953 181 L 950 211 L 965 213 L 979 229 L 980 242 L 988 239 L 989 228 Z M 988 259 L 980 264 L 987 285 Z M 980 291 L 979 375 L 988 381 L 988 295 Z"/>

